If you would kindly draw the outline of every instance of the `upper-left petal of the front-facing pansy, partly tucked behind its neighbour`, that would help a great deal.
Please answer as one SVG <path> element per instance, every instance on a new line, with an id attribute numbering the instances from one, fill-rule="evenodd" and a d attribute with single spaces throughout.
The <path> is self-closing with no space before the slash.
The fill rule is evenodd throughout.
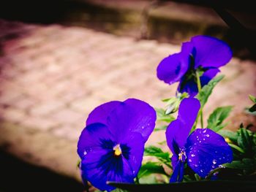
<path id="1" fill-rule="evenodd" d="M 101 104 L 96 107 L 88 116 L 86 120 L 86 125 L 91 123 L 103 123 L 107 124 L 107 118 L 110 112 L 112 112 L 121 101 L 110 101 L 105 104 Z"/>

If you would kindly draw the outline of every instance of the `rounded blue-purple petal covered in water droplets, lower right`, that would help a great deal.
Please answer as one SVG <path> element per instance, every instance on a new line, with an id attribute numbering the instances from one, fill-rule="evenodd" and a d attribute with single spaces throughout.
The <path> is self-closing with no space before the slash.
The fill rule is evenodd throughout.
<path id="1" fill-rule="evenodd" d="M 186 145 L 187 161 L 200 177 L 233 160 L 233 152 L 225 139 L 208 128 L 197 128 L 190 134 Z"/>

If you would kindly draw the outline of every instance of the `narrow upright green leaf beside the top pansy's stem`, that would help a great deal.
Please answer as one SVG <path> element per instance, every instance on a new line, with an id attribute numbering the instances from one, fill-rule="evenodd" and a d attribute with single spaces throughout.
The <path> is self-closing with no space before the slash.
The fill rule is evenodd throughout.
<path id="1" fill-rule="evenodd" d="M 223 74 L 215 77 L 210 82 L 208 82 L 207 85 L 204 85 L 203 88 L 201 89 L 201 91 L 197 94 L 197 99 L 199 99 L 202 108 L 206 104 L 208 97 L 211 95 L 214 87 L 223 78 L 224 78 Z"/>

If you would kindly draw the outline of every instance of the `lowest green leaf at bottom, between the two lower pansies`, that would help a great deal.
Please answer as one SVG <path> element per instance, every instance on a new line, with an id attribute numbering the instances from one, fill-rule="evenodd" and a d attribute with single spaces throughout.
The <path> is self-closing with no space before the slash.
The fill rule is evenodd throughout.
<path id="1" fill-rule="evenodd" d="M 165 169 L 159 162 L 146 162 L 140 167 L 138 178 L 147 176 L 148 174 L 166 174 Z"/>

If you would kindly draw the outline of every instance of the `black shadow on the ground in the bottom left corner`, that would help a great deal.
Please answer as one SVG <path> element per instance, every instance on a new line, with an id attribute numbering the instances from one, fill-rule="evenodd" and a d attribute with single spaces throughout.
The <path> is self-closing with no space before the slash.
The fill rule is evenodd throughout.
<path id="1" fill-rule="evenodd" d="M 21 161 L 0 149 L 0 191 L 84 191 L 82 183 Z"/>

